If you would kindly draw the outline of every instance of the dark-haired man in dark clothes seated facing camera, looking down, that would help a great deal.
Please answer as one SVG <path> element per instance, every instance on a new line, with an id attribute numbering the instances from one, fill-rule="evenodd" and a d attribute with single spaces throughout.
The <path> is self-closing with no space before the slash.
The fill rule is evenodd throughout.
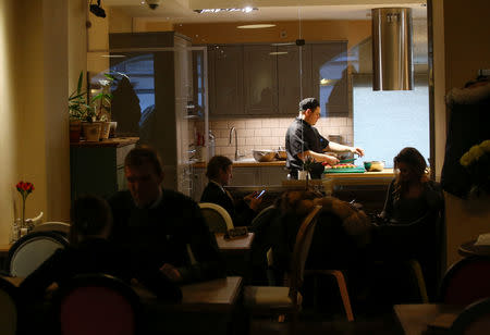
<path id="1" fill-rule="evenodd" d="M 146 147 L 131 150 L 124 171 L 130 189 L 117 193 L 109 201 L 113 240 L 176 283 L 224 276 L 215 235 L 197 203 L 177 191 L 162 189 L 163 171 L 157 153 Z"/>

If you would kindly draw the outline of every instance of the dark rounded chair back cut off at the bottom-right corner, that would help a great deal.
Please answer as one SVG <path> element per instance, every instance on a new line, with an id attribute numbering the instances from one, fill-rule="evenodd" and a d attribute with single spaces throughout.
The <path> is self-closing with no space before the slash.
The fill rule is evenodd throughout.
<path id="1" fill-rule="evenodd" d="M 490 298 L 478 300 L 465 308 L 454 320 L 451 335 L 480 335 L 490 330 Z"/>

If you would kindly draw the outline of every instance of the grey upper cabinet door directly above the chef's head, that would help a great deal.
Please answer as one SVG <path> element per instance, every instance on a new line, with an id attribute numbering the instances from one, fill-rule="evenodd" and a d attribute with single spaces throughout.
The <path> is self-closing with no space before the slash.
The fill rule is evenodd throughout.
<path id="1" fill-rule="evenodd" d="M 311 97 L 311 48 L 303 46 L 302 59 L 299 60 L 298 46 L 278 46 L 278 94 L 279 113 L 284 115 L 296 115 L 298 102 L 303 97 Z M 286 53 L 283 53 L 286 52 Z M 299 73 L 299 61 L 302 73 Z M 299 75 L 302 80 L 299 80 Z M 302 84 L 302 86 L 299 85 Z"/>

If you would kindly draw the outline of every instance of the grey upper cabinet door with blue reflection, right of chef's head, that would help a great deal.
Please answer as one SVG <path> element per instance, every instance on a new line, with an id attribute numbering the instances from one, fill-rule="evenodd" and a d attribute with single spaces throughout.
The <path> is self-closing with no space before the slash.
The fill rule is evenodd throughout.
<path id="1" fill-rule="evenodd" d="M 310 48 L 313 92 L 320 100 L 322 114 L 347 116 L 347 42 L 315 44 Z"/>

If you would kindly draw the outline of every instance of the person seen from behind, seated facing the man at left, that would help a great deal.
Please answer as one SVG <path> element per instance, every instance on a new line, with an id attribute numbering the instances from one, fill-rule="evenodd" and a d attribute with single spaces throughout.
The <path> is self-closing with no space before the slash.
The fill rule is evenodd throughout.
<path id="1" fill-rule="evenodd" d="M 112 226 L 112 215 L 106 200 L 85 196 L 75 200 L 72 208 L 70 246 L 58 249 L 38 269 L 28 275 L 20 289 L 25 298 L 42 298 L 51 284 L 84 273 L 106 273 L 123 280 L 136 278 L 157 297 L 177 301 L 182 293 L 159 269 L 150 269 L 144 260 L 136 259 L 107 239 Z"/>

